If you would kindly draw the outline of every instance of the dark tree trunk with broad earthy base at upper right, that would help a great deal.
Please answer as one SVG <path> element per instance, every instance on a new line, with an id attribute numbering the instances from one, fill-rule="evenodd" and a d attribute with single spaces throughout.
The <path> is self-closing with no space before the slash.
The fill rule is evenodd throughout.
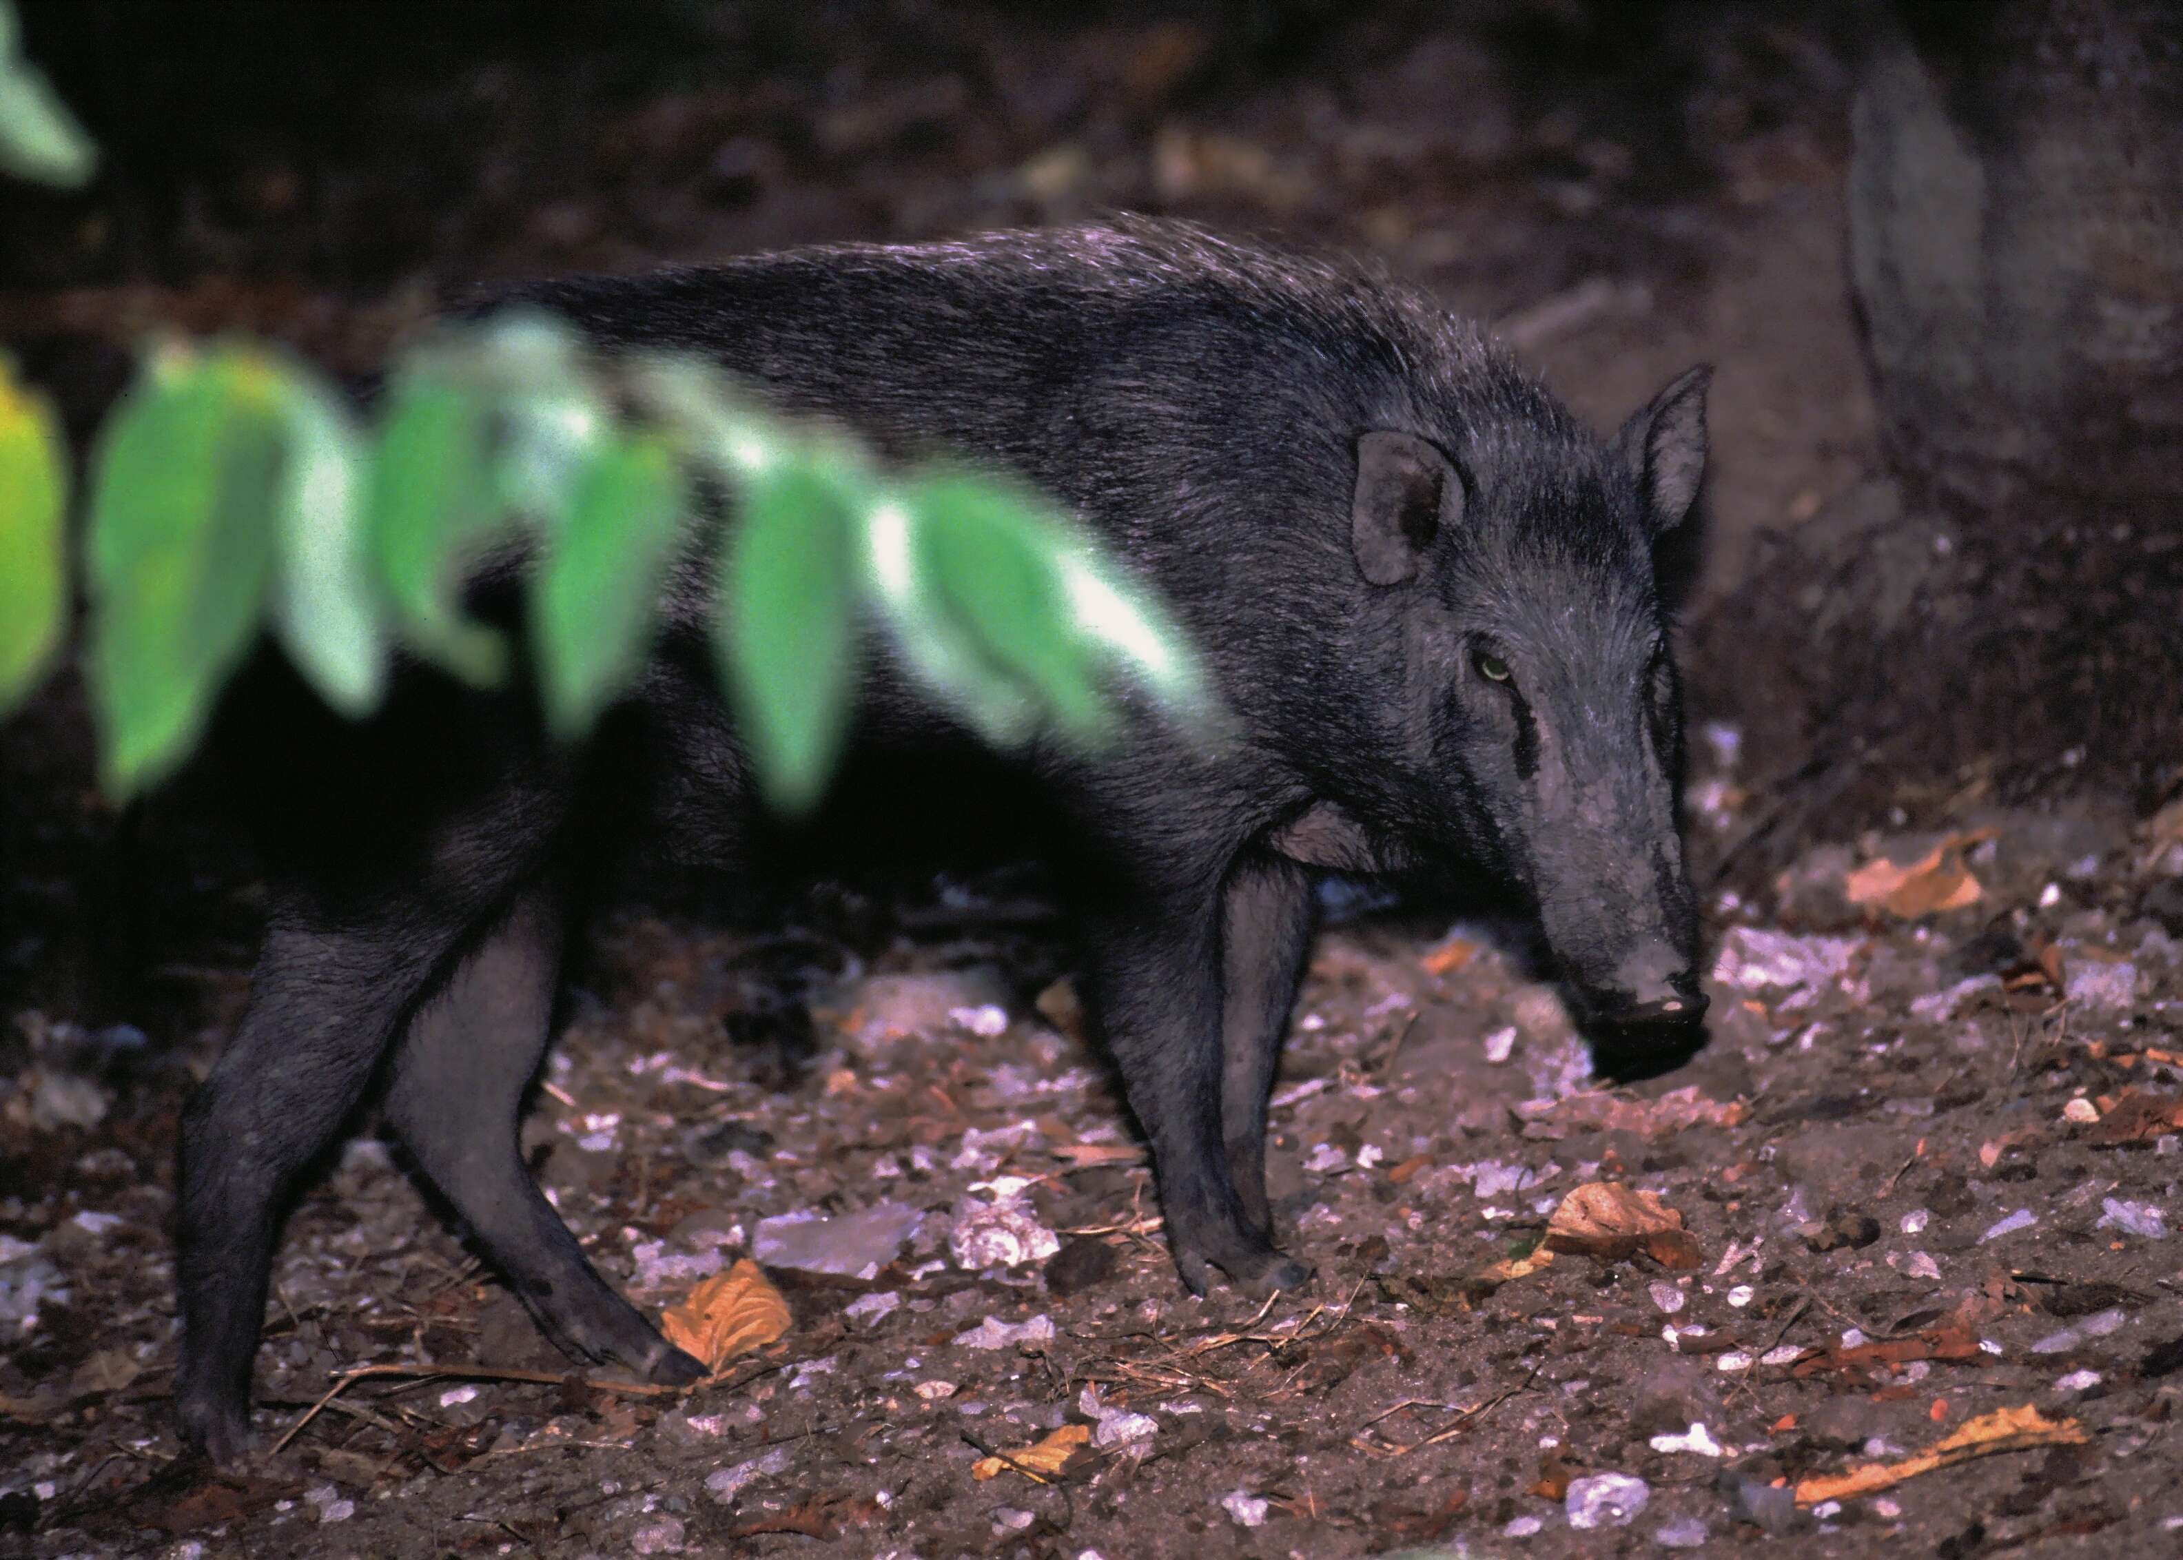
<path id="1" fill-rule="evenodd" d="M 1849 273 L 1888 471 L 1701 624 L 1698 703 L 1845 805 L 2146 801 L 2183 775 L 2183 7 L 1877 15 Z"/>

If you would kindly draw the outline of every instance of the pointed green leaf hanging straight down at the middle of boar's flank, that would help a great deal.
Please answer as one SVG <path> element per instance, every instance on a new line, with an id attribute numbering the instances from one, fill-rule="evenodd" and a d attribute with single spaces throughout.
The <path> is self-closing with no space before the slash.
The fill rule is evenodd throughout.
<path id="1" fill-rule="evenodd" d="M 854 495 L 795 452 L 742 487 L 714 644 L 768 801 L 803 812 L 840 753 L 856 672 Z"/>

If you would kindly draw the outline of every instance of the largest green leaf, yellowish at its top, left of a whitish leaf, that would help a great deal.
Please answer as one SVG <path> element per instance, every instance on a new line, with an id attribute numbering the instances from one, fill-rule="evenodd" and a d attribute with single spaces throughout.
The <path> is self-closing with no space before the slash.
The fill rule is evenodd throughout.
<path id="1" fill-rule="evenodd" d="M 179 764 L 258 626 L 275 548 L 279 375 L 247 347 L 162 351 L 92 463 L 92 700 L 129 794 Z"/>

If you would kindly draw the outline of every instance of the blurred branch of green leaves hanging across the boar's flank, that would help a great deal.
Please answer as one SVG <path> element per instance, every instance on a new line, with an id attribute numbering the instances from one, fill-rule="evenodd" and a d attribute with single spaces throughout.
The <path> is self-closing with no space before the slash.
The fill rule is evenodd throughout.
<path id="1" fill-rule="evenodd" d="M 0 364 L 0 711 L 61 637 L 63 469 L 50 408 Z M 1209 711 L 1159 607 L 1033 493 L 954 467 L 891 476 L 701 360 L 607 360 L 544 314 L 410 349 L 373 428 L 275 349 L 157 345 L 87 487 L 85 670 L 116 796 L 188 757 L 260 628 L 354 718 L 397 652 L 506 681 L 515 648 L 463 604 L 480 572 L 522 578 L 546 722 L 576 740 L 642 670 L 670 569 L 692 565 L 675 589 L 703 598 L 786 809 L 832 772 L 864 620 L 995 746 L 1109 735 L 1116 672 L 1170 713 Z M 707 519 L 714 489 L 731 524 Z"/>

